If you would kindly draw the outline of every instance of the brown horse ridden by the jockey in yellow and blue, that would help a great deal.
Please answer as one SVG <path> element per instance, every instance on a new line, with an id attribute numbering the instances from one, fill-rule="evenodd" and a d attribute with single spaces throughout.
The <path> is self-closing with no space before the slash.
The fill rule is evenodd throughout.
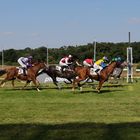
<path id="1" fill-rule="evenodd" d="M 99 93 L 103 83 L 108 80 L 108 77 L 113 72 L 113 70 L 117 67 L 117 65 L 118 62 L 111 62 L 106 68 L 104 68 L 100 72 L 100 74 L 91 74 L 90 68 L 87 67 L 76 67 L 75 72 L 78 76 L 73 80 L 72 90 L 73 91 L 75 90 L 76 83 L 80 88 L 80 90 L 82 90 L 82 85 L 80 84 L 80 82 L 86 80 L 87 78 L 90 78 L 99 81 L 99 85 L 97 87 Z"/>

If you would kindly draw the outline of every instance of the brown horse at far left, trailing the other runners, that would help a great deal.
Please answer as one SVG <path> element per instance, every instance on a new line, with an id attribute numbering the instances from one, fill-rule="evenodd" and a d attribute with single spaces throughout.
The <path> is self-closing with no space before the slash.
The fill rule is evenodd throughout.
<path id="1" fill-rule="evenodd" d="M 1 81 L 0 86 L 4 85 L 7 81 L 12 81 L 12 85 L 14 86 L 14 80 L 18 79 L 21 81 L 26 81 L 26 84 L 24 85 L 23 89 L 32 81 L 34 85 L 36 86 L 37 91 L 39 91 L 38 83 L 36 80 L 37 74 L 39 70 L 46 67 L 45 63 L 36 63 L 33 67 L 28 68 L 27 75 L 23 75 L 22 73 L 19 74 L 19 68 L 18 67 L 11 67 L 4 70 L 0 70 L 0 76 L 3 74 L 6 74 L 6 77 L 4 80 Z"/>

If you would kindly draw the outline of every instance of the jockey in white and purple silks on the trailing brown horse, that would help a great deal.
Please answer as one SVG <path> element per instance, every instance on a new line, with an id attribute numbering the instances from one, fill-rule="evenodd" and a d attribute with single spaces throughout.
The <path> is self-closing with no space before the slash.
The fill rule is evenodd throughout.
<path id="1" fill-rule="evenodd" d="M 26 75 L 26 69 L 32 66 L 32 56 L 20 57 L 17 61 L 23 68 L 23 74 Z"/>

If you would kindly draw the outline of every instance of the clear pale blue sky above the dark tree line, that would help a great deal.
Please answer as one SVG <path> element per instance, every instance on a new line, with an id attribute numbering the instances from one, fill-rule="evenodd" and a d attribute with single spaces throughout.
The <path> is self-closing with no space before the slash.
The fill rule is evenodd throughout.
<path id="1" fill-rule="evenodd" d="M 0 0 L 0 50 L 140 41 L 140 0 Z"/>

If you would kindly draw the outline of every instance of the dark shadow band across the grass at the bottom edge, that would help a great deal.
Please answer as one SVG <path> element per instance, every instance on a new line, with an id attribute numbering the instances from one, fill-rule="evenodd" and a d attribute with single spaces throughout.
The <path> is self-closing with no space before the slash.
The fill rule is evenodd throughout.
<path id="1" fill-rule="evenodd" d="M 3 124 L 0 140 L 139 140 L 140 122 Z"/>

